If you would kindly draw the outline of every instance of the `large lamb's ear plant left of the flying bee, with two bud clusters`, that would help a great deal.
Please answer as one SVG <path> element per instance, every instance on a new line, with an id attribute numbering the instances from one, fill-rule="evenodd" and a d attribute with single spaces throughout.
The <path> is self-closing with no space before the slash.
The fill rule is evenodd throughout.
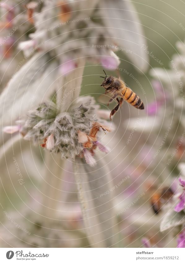
<path id="1" fill-rule="evenodd" d="M 30 48 L 36 51 L 0 96 L 1 125 L 5 132 L 19 131 L 25 140 L 44 149 L 41 226 L 52 229 L 56 221 L 62 224 L 57 205 L 61 196 L 57 193 L 68 159 L 75 174 L 89 245 L 117 246 L 114 196 L 110 191 L 113 185 L 105 162 L 110 149 L 102 142 L 113 127 L 102 118 L 92 96 L 80 96 L 80 89 L 87 61 L 101 63 L 104 68 L 118 66 L 119 59 L 113 52 L 116 46 L 123 51 L 130 47 L 128 58 L 136 67 L 146 68 L 139 20 L 132 4 L 121 0 L 114 5 L 105 0 L 83 1 L 83 6 L 81 1 L 44 1 L 39 12 L 32 9 L 34 33 L 19 44 L 19 49 L 24 55 Z M 105 19 L 106 13 L 109 19 Z M 136 57 L 142 63 L 137 63 Z M 28 238 L 26 242 L 33 243 Z"/>

